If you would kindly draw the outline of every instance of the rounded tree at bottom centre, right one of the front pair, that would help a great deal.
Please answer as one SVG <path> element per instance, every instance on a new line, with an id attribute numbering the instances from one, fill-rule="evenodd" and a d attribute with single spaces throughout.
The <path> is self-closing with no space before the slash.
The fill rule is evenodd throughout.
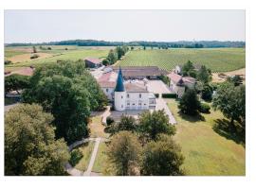
<path id="1" fill-rule="evenodd" d="M 160 135 L 157 141 L 145 146 L 142 154 L 141 175 L 178 176 L 184 175 L 181 165 L 184 157 L 180 146 L 170 136 Z"/>

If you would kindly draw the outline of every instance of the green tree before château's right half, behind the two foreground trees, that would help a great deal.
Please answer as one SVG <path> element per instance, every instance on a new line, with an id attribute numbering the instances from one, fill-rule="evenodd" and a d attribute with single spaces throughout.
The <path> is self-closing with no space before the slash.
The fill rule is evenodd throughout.
<path id="1" fill-rule="evenodd" d="M 174 126 L 169 123 L 169 117 L 164 110 L 142 112 L 139 115 L 137 131 L 146 141 L 155 140 L 160 133 L 175 133 Z"/>

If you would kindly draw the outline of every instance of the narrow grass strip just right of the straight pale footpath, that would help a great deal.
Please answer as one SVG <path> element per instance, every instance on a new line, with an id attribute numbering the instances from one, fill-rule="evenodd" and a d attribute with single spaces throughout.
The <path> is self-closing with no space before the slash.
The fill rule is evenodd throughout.
<path id="1" fill-rule="evenodd" d="M 93 165 L 93 172 L 102 173 L 105 168 L 105 163 L 107 163 L 107 156 L 106 156 L 106 144 L 101 142 L 98 148 L 98 153 L 96 156 L 96 160 Z"/>

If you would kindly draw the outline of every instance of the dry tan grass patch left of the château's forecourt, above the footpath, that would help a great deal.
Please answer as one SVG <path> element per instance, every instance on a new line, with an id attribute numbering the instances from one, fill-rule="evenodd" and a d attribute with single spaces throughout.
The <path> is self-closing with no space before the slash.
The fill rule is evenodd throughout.
<path id="1" fill-rule="evenodd" d="M 91 122 L 89 123 L 89 129 L 91 131 L 90 137 L 102 137 L 107 138 L 109 136 L 108 133 L 104 132 L 105 127 L 101 123 L 101 116 L 93 116 L 91 117 Z"/>

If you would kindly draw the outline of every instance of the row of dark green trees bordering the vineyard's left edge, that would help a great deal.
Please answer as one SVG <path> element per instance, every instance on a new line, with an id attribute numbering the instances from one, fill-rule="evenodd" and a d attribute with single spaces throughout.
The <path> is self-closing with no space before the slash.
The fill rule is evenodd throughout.
<path id="1" fill-rule="evenodd" d="M 129 50 L 129 47 L 126 45 L 118 46 L 115 49 L 111 49 L 108 53 L 106 59 L 102 60 L 104 65 L 114 64 L 117 60 L 120 60 L 122 56 Z"/>

